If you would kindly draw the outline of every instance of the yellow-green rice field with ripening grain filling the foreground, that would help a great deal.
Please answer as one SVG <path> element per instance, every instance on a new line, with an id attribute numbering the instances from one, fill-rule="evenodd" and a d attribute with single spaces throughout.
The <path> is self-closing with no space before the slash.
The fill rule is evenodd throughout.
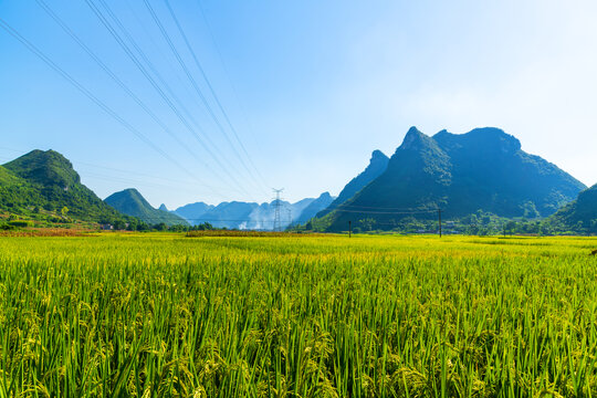
<path id="1" fill-rule="evenodd" d="M 0 397 L 597 397 L 594 249 L 0 237 Z"/>

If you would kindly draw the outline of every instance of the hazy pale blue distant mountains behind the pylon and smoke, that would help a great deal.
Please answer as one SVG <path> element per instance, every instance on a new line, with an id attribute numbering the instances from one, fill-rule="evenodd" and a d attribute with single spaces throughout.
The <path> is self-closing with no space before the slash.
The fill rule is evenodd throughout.
<path id="1" fill-rule="evenodd" d="M 325 192 L 320 198 L 306 198 L 295 203 L 280 201 L 280 226 L 286 228 L 297 218 L 306 220 L 327 207 L 334 198 Z M 275 221 L 275 200 L 265 203 L 232 201 L 211 206 L 203 202 L 190 203 L 174 210 L 191 224 L 209 222 L 217 228 L 272 230 Z"/>

